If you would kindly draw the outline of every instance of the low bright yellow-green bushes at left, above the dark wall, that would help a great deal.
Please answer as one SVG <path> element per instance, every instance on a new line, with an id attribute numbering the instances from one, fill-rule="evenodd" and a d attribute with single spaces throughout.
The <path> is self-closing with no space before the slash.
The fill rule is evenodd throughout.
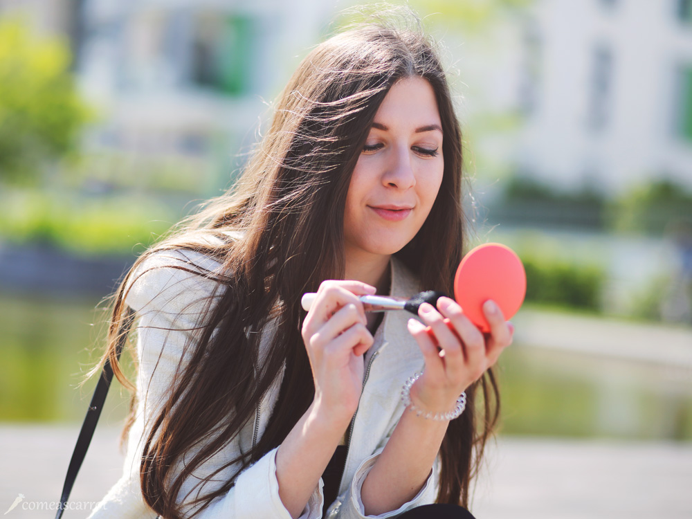
<path id="1" fill-rule="evenodd" d="M 135 246 L 152 244 L 176 219 L 165 204 L 143 197 L 15 191 L 1 202 L 0 237 L 53 244 L 80 255 L 129 255 Z"/>

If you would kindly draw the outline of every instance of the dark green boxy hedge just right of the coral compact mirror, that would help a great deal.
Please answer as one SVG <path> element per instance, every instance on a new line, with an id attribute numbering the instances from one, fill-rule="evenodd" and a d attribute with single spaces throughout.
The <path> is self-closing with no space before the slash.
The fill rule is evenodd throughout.
<path id="1" fill-rule="evenodd" d="M 527 302 L 599 311 L 605 273 L 593 265 L 522 255 Z"/>

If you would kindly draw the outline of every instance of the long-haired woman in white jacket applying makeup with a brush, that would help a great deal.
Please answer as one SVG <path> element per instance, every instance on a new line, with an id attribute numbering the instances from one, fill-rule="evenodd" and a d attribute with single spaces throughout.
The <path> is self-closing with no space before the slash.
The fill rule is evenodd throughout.
<path id="1" fill-rule="evenodd" d="M 419 320 L 358 300 L 453 292 L 461 169 L 446 77 L 419 30 L 369 24 L 316 47 L 234 190 L 139 257 L 116 293 L 102 361 L 127 384 L 115 343 L 131 307 L 136 397 L 124 475 L 92 517 L 466 507 L 511 325 L 491 302 L 483 336 L 448 298 Z"/>

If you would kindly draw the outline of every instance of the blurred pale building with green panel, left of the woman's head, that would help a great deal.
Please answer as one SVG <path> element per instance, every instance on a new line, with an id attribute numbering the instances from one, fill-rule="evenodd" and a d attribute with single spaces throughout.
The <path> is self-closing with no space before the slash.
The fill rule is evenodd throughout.
<path id="1" fill-rule="evenodd" d="M 213 192 L 332 9 L 318 0 L 85 0 L 78 74 L 104 109 L 87 149 L 198 160 Z"/>

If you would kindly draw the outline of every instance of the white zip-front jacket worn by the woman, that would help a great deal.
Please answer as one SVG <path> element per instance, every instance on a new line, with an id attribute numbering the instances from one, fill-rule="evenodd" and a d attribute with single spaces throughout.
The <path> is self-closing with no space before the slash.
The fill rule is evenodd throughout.
<path id="1" fill-rule="evenodd" d="M 156 518 L 156 513 L 144 502 L 140 489 L 143 439 L 146 437 L 145 432 L 150 430 L 149 421 L 156 419 L 158 410 L 169 394 L 169 384 L 174 372 L 179 366 L 187 365 L 190 358 L 191 352 L 184 351 L 183 346 L 191 332 L 185 329 L 194 327 L 200 313 L 207 311 L 206 300 L 215 286 L 212 280 L 172 266 L 201 266 L 210 270 L 220 267 L 218 262 L 199 253 L 166 251 L 149 257 L 134 273 L 126 302 L 138 313 L 138 407 L 129 432 L 122 477 L 93 510 L 90 519 Z M 415 276 L 394 257 L 391 268 L 391 295 L 410 297 L 421 290 Z M 137 278 L 139 273 L 143 275 Z M 423 489 L 399 509 L 379 516 L 365 516 L 361 501 L 361 486 L 365 476 L 404 411 L 399 397 L 401 387 L 409 376 L 424 366 L 419 347 L 406 328 L 410 317 L 412 314 L 406 311 L 385 313 L 374 336 L 375 343 L 365 355 L 365 383 L 352 422 L 351 441 L 338 498 L 325 506 L 320 479 L 301 519 L 317 519 L 322 516 L 333 519 L 390 518 L 413 507 L 434 502 L 439 477 L 437 459 Z M 271 323 L 268 326 L 271 327 Z M 260 358 L 270 336 L 263 334 Z M 197 497 L 218 489 L 237 473 L 239 464 L 224 469 L 210 481 L 204 481 L 205 477 L 235 458 L 239 452 L 246 452 L 253 441 L 264 433 L 279 387 L 280 376 L 262 399 L 255 420 L 249 421 L 239 435 L 229 441 L 215 457 L 199 466 L 194 477 L 185 480 L 179 493 L 179 502 L 189 501 L 189 496 Z M 214 500 L 196 517 L 290 519 L 289 512 L 279 498 L 275 455 L 276 449 L 273 449 L 246 468 L 237 476 L 235 486 L 226 495 Z M 182 457 L 178 462 L 178 467 L 183 466 L 184 459 Z M 199 505 L 185 507 L 185 515 L 190 516 L 198 507 Z"/>

